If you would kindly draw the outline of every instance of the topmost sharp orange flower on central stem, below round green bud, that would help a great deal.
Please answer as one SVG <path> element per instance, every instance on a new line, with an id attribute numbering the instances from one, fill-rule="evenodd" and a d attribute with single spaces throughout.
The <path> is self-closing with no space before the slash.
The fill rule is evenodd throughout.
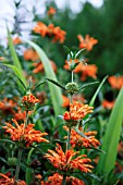
<path id="1" fill-rule="evenodd" d="M 83 104 L 79 102 L 70 103 L 70 112 L 65 111 L 63 120 L 65 121 L 79 121 L 85 118 L 88 113 L 93 112 L 93 107 Z"/>

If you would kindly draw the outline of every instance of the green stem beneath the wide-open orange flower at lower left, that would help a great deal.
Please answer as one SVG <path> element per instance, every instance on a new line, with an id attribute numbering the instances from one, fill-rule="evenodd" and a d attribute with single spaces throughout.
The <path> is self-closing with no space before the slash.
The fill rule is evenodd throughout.
<path id="1" fill-rule="evenodd" d="M 16 171 L 15 171 L 15 181 L 19 181 L 19 173 L 20 173 L 20 166 L 21 166 L 21 159 L 22 159 L 22 148 L 19 149 L 17 163 L 16 163 Z"/>

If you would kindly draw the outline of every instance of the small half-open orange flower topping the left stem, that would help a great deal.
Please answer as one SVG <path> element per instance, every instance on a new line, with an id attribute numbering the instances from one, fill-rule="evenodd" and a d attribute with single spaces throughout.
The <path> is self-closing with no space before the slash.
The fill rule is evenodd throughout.
<path id="1" fill-rule="evenodd" d="M 22 103 L 27 111 L 33 110 L 37 102 L 39 102 L 39 99 L 36 99 L 36 97 L 32 94 L 24 96 L 22 99 Z"/>

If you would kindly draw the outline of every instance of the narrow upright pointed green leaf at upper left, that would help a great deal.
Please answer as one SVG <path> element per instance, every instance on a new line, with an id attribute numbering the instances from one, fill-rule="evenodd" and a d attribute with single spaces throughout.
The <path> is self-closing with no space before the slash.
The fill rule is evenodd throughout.
<path id="1" fill-rule="evenodd" d="M 21 66 L 21 63 L 20 63 L 20 60 L 17 58 L 17 54 L 15 52 L 15 49 L 14 49 L 14 46 L 13 46 L 13 41 L 12 41 L 12 38 L 11 38 L 11 35 L 10 35 L 10 32 L 9 32 L 9 28 L 7 27 L 8 29 L 8 39 L 9 39 L 9 48 L 10 48 L 10 52 L 11 52 L 11 55 L 12 55 L 12 59 L 13 59 L 13 64 L 17 67 L 17 70 L 20 71 L 20 74 L 21 74 L 21 79 L 22 82 L 24 83 L 24 85 L 26 86 L 26 79 L 24 77 L 24 74 L 23 74 L 23 70 L 22 70 L 22 66 Z"/>

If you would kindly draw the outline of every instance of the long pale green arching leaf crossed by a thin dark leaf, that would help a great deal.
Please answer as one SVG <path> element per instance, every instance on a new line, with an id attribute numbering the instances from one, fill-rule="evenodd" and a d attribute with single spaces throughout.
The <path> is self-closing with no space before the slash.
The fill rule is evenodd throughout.
<path id="1" fill-rule="evenodd" d="M 49 62 L 48 57 L 46 55 L 46 53 L 44 52 L 44 50 L 41 48 L 39 48 L 38 45 L 36 45 L 33 41 L 27 40 L 27 44 L 29 44 L 38 53 L 41 62 L 44 63 L 44 67 L 45 67 L 45 73 L 47 78 L 50 78 L 52 81 L 57 82 L 57 76 L 52 70 L 52 66 Z M 54 109 L 54 113 L 56 115 L 61 113 L 61 107 L 62 107 L 62 94 L 59 87 L 54 86 L 53 84 L 49 83 L 49 89 L 50 89 L 50 95 L 51 95 L 51 100 L 52 100 L 52 104 L 53 104 L 53 109 Z"/>

